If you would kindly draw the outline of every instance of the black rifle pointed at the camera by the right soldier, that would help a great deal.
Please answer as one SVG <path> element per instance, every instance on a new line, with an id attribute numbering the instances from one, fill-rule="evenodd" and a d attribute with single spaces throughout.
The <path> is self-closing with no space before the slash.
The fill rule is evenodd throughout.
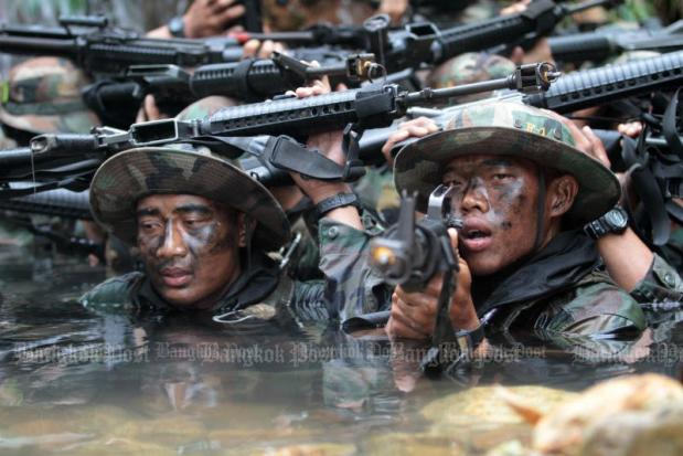
<path id="1" fill-rule="evenodd" d="M 431 348 L 421 364 L 434 373 L 461 356 L 471 354 L 462 352 L 465 348 L 458 344 L 449 316 L 457 287 L 453 274 L 460 269 L 448 229 L 462 227 L 462 222 L 452 215 L 452 189 L 437 187 L 429 195 L 427 214 L 417 222 L 415 195 L 404 193 L 396 224 L 370 243 L 371 266 L 389 285 L 401 285 L 408 293 L 421 291 L 435 275 L 444 275 Z"/>

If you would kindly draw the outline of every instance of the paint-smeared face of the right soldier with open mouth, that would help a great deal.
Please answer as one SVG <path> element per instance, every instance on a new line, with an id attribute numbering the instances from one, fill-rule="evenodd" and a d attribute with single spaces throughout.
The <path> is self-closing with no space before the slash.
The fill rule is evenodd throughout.
<path id="1" fill-rule="evenodd" d="M 472 275 L 494 274 L 529 254 L 536 235 L 537 168 L 503 156 L 458 157 L 442 182 L 462 218 L 458 247 Z"/>

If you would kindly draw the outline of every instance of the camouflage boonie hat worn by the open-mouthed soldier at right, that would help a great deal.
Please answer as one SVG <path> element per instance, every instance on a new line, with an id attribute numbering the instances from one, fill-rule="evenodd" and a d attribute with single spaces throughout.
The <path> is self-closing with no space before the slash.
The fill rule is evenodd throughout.
<path id="1" fill-rule="evenodd" d="M 570 224 L 597 219 L 621 194 L 617 177 L 576 149 L 572 132 L 559 120 L 512 102 L 463 107 L 442 131 L 406 145 L 394 163 L 396 189 L 417 191 L 418 210 L 426 212 L 429 193 L 441 183 L 446 163 L 456 157 L 489 153 L 527 159 L 574 176 L 579 189 L 567 213 Z"/>

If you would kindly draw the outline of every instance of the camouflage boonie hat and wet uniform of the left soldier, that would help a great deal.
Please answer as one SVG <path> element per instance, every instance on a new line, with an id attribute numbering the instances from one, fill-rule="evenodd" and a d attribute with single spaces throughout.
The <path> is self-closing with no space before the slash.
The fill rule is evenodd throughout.
<path id="1" fill-rule="evenodd" d="M 238 189 L 238 191 L 237 191 Z M 137 201 L 147 194 L 198 194 L 244 212 L 257 222 L 253 242 L 243 255 L 244 272 L 213 307 L 221 321 L 268 320 L 294 315 L 305 320 L 333 318 L 323 301 L 323 280 L 298 283 L 280 274 L 278 265 L 264 252 L 289 240 L 287 218 L 274 197 L 227 160 L 207 149 L 141 148 L 120 152 L 107 160 L 90 184 L 90 206 L 95 220 L 108 232 L 135 244 Z M 81 301 L 92 308 L 124 308 L 135 311 L 171 310 L 142 273 L 111 278 Z"/>

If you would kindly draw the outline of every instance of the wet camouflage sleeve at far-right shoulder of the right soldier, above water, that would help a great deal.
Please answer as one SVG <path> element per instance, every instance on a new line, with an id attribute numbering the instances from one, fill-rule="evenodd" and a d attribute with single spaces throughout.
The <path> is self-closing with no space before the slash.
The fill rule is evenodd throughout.
<path id="1" fill-rule="evenodd" d="M 594 282 L 575 290 L 573 299 L 555 307 L 544 326 L 546 335 L 599 337 L 623 336 L 633 338 L 645 328 L 640 305 L 625 290 L 609 282 Z"/>

